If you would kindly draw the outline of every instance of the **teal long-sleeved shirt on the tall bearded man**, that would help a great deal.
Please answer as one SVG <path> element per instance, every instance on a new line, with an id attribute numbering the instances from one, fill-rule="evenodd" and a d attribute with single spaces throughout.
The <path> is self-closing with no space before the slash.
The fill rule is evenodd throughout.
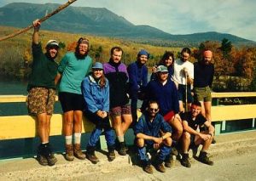
<path id="1" fill-rule="evenodd" d="M 92 66 L 92 59 L 87 55 L 84 59 L 78 59 L 73 52 L 67 53 L 59 65 L 61 83 L 59 92 L 82 94 L 81 83 L 87 76 Z"/>

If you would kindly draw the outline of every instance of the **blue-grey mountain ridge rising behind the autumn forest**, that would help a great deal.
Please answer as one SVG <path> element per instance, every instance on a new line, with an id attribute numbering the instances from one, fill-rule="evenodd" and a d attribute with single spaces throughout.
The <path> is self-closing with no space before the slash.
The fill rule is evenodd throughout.
<path id="1" fill-rule="evenodd" d="M 60 4 L 9 3 L 0 8 L 0 25 L 26 27 L 32 20 L 44 17 Z M 104 37 L 120 37 L 136 42 L 181 46 L 198 45 L 204 41 L 221 41 L 227 38 L 233 44 L 256 44 L 256 42 L 218 32 L 201 32 L 189 35 L 172 35 L 149 25 L 133 25 L 124 17 L 107 8 L 68 7 L 42 24 L 52 31 L 86 33 Z"/>

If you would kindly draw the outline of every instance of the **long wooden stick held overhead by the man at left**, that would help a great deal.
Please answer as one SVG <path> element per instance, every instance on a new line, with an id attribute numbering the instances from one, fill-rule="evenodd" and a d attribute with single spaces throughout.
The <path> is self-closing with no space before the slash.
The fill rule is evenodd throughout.
<path id="1" fill-rule="evenodd" d="M 69 6 L 70 4 L 74 3 L 75 1 L 77 1 L 77 0 L 68 0 L 67 3 L 62 4 L 59 8 L 56 8 L 55 11 L 51 12 L 50 14 L 47 14 L 46 16 L 44 16 L 44 18 L 41 18 L 39 21 L 42 23 L 44 20 L 49 19 L 49 17 L 53 16 L 54 14 L 59 13 L 62 9 L 67 8 L 67 6 Z M 3 40 L 7 40 L 7 39 L 9 39 L 11 37 L 16 37 L 16 36 L 20 35 L 21 33 L 30 30 L 32 27 L 33 27 L 33 25 L 29 25 L 29 26 L 27 26 L 26 28 L 24 28 L 24 29 L 22 29 L 20 31 L 16 31 L 16 32 L 14 32 L 12 34 L 9 34 L 6 37 L 1 37 L 0 38 L 0 42 L 3 41 Z"/>

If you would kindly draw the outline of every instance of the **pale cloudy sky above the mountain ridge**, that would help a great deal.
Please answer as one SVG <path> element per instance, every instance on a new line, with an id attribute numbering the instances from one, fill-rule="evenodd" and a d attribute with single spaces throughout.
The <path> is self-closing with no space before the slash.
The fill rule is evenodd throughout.
<path id="1" fill-rule="evenodd" d="M 8 3 L 67 3 L 67 0 L 0 0 Z M 256 42 L 254 0 L 78 0 L 73 6 L 108 8 L 134 25 L 171 34 L 218 31 Z"/>

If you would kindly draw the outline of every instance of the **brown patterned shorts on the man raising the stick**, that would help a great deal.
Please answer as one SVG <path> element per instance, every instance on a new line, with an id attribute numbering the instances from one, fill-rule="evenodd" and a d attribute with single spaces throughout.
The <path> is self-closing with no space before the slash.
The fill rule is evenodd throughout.
<path id="1" fill-rule="evenodd" d="M 36 116 L 42 113 L 52 115 L 55 104 L 55 89 L 32 88 L 27 95 L 26 105 L 28 113 Z"/>

